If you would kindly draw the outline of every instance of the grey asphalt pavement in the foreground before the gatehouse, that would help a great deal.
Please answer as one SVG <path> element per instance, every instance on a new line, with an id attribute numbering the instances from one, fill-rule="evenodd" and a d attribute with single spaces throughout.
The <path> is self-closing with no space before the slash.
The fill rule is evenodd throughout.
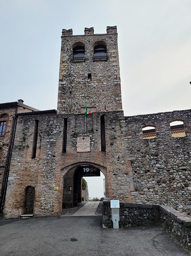
<path id="1" fill-rule="evenodd" d="M 102 228 L 102 216 L 0 221 L 1 256 L 185 256 L 160 227 Z"/>

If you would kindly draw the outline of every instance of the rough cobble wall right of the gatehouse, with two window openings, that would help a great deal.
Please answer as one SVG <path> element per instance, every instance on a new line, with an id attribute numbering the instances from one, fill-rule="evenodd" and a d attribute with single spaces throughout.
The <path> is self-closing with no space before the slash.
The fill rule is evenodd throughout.
<path id="1" fill-rule="evenodd" d="M 184 122 L 186 137 L 172 137 L 170 123 L 175 120 Z M 143 139 L 145 126 L 156 127 L 157 137 Z M 125 117 L 122 132 L 124 155 L 133 168 L 135 201 L 191 214 L 191 111 Z"/>

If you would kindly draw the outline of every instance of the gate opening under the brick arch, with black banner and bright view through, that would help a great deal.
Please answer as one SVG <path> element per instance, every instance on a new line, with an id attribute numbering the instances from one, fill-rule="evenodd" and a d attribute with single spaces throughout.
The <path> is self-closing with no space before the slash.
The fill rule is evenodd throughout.
<path id="1" fill-rule="evenodd" d="M 91 197 L 91 199 L 96 197 L 103 199 L 107 194 L 106 168 L 99 168 L 99 165 L 88 162 L 81 162 L 77 166 L 76 164 L 73 165 L 75 165 L 75 167 L 70 169 L 63 176 L 62 208 L 75 207 L 77 203 L 87 201 L 89 197 Z M 83 178 L 88 183 L 89 195 L 87 195 L 88 191 L 82 191 Z M 104 183 L 103 179 L 105 179 Z"/>

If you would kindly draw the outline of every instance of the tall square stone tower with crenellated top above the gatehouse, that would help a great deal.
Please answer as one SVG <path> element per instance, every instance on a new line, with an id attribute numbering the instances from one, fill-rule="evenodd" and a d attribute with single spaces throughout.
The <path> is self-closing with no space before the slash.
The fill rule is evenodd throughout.
<path id="1" fill-rule="evenodd" d="M 84 113 L 122 110 L 117 26 L 106 34 L 62 31 L 57 112 Z"/>

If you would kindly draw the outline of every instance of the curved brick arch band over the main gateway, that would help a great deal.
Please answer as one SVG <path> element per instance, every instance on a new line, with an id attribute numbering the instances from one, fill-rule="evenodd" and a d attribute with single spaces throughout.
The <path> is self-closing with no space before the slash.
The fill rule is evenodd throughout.
<path id="1" fill-rule="evenodd" d="M 81 166 L 81 165 L 91 165 L 95 168 L 98 168 L 106 177 L 107 176 L 107 168 L 102 165 L 100 162 L 90 162 L 90 161 L 82 161 L 82 162 L 73 162 L 70 163 L 70 165 L 66 165 L 61 169 L 61 174 L 64 176 L 67 172 L 69 172 L 71 169 Z"/>

